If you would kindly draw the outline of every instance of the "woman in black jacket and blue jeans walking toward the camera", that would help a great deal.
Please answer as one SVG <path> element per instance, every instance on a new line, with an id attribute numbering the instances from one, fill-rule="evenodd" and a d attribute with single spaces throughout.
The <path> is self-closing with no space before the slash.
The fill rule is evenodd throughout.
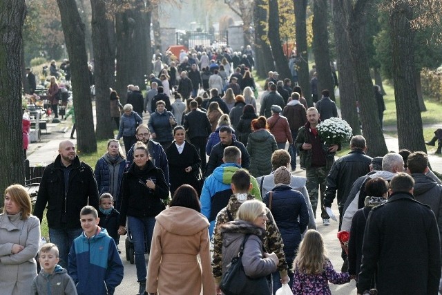
<path id="1" fill-rule="evenodd" d="M 122 206 L 119 214 L 118 234 L 126 233 L 126 222 L 131 231 L 135 251 L 139 293 L 146 289 L 146 240 L 151 247 L 155 216 L 165 209 L 163 200 L 169 198 L 169 185 L 160 168 L 149 159 L 147 146 L 137 142 L 133 148 L 133 163 L 122 180 Z"/>

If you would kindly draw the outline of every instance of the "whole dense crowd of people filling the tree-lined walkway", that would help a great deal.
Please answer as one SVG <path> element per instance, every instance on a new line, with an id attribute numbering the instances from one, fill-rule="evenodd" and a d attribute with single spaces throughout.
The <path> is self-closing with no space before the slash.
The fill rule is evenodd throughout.
<path id="1" fill-rule="evenodd" d="M 33 212 L 25 188 L 6 189 L 5 292 L 114 294 L 124 277 L 119 236 L 128 234 L 138 294 L 228 294 L 244 283 L 240 294 L 289 284 L 293 294 L 321 295 L 352 279 L 358 294 L 437 294 L 442 184 L 427 155 L 371 158 L 356 135 L 335 160 L 343 146 L 325 145 L 317 129 L 338 115 L 328 90 L 308 108 L 299 86 L 271 72 L 258 111 L 248 54 L 238 64 L 238 53 L 211 54 L 156 56 L 146 97 L 129 85 L 124 106 L 111 90 L 116 139 L 95 169 L 61 142 Z M 298 156 L 306 178 L 291 173 Z M 341 272 L 315 222 L 320 210 L 330 224 L 335 198 L 340 236 L 349 236 Z M 50 243 L 39 247 L 45 209 Z M 233 272 L 245 281 L 232 285 Z"/>

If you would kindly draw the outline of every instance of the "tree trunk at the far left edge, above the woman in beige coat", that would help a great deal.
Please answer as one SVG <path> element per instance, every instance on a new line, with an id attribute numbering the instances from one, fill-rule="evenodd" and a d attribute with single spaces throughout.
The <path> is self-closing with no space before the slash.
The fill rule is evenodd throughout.
<path id="1" fill-rule="evenodd" d="M 0 191 L 25 180 L 21 135 L 21 28 L 24 0 L 0 1 Z M 6 70 L 8 69 L 8 70 Z M 3 207 L 3 198 L 0 198 Z"/>

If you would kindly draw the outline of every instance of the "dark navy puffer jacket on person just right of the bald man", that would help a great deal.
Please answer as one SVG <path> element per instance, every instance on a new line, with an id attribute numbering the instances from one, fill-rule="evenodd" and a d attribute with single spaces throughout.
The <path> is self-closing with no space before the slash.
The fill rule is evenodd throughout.
<path id="1" fill-rule="evenodd" d="M 102 193 L 111 193 L 113 200 L 117 203 L 119 196 L 119 188 L 122 183 L 124 168 L 126 160 L 119 157 L 114 163 L 105 153 L 102 158 L 99 158 L 95 164 L 95 180 L 97 180 L 97 187 L 99 196 Z"/>

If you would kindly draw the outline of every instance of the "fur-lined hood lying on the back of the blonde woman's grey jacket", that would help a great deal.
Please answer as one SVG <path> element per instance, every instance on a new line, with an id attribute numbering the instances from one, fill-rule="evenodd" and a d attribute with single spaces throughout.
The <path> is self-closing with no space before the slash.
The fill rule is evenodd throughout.
<path id="1" fill-rule="evenodd" d="M 245 234 L 258 236 L 260 240 L 262 240 L 267 234 L 265 229 L 257 227 L 256 225 L 253 225 L 253 223 L 244 220 L 227 222 L 224 225 L 220 225 L 220 230 L 224 247 L 229 247 L 232 243 L 237 242 L 238 239 L 242 240 Z"/>

